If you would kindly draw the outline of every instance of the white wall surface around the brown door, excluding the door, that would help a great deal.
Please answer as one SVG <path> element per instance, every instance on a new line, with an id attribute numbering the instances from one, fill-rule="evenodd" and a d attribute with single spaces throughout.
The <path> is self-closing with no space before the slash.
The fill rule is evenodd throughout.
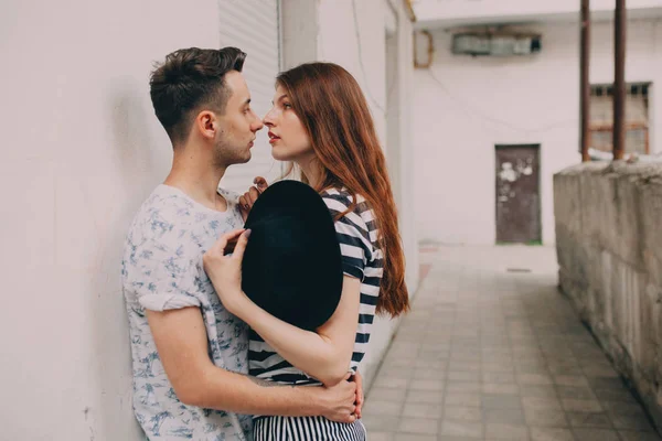
<path id="1" fill-rule="evenodd" d="M 494 144 L 540 143 L 543 240 L 554 243 L 552 175 L 580 160 L 579 29 L 532 29 L 543 35 L 542 53 L 510 58 L 452 55 L 451 33 L 434 33 L 435 62 L 413 82 L 421 239 L 493 244 Z M 591 35 L 590 80 L 612 82 L 612 24 L 594 23 Z M 630 21 L 626 79 L 653 82 L 653 151 L 662 151 L 661 55 L 662 22 Z"/>

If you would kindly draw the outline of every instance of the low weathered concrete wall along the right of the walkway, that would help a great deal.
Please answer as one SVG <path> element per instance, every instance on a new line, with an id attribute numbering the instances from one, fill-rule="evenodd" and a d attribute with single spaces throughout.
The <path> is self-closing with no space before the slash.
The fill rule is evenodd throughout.
<path id="1" fill-rule="evenodd" d="M 554 176 L 559 282 L 662 428 L 662 164 Z"/>

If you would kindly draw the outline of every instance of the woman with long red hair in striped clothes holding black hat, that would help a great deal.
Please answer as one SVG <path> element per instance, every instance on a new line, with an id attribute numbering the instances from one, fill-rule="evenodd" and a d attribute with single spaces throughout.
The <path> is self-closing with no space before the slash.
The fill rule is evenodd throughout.
<path id="1" fill-rule="evenodd" d="M 280 74 L 274 107 L 264 119 L 273 155 L 291 161 L 317 190 L 335 219 L 343 259 L 338 309 L 317 332 L 267 314 L 241 291 L 237 258 L 205 256 L 205 269 L 224 305 L 252 327 L 250 374 L 292 385 L 334 385 L 356 372 L 375 313 L 408 310 L 404 255 L 386 161 L 361 88 L 342 67 L 310 63 Z M 263 187 L 264 187 L 264 183 Z M 242 198 L 249 209 L 255 201 Z M 241 232 L 224 236 L 223 247 Z M 247 234 L 235 254 L 243 252 Z M 359 420 L 342 424 L 322 417 L 256 417 L 255 439 L 363 440 Z"/>

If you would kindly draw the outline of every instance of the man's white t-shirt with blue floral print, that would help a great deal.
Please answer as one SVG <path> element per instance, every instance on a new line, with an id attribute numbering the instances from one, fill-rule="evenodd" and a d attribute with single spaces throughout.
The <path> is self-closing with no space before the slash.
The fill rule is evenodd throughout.
<path id="1" fill-rule="evenodd" d="M 149 440 L 252 439 L 252 418 L 182 404 L 166 376 L 146 310 L 197 306 L 213 363 L 247 373 L 247 326 L 225 310 L 206 277 L 203 254 L 224 233 L 242 228 L 236 196 L 223 190 L 227 211 L 210 209 L 182 191 L 159 185 L 129 229 L 121 262 L 130 326 L 134 411 Z"/>

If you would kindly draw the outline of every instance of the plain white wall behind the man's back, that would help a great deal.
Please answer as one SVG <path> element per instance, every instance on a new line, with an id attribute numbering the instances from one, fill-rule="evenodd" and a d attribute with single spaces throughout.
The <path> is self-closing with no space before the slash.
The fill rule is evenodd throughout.
<path id="1" fill-rule="evenodd" d="M 7 440 L 137 440 L 122 239 L 171 160 L 152 61 L 218 44 L 215 0 L 0 7 Z"/>

